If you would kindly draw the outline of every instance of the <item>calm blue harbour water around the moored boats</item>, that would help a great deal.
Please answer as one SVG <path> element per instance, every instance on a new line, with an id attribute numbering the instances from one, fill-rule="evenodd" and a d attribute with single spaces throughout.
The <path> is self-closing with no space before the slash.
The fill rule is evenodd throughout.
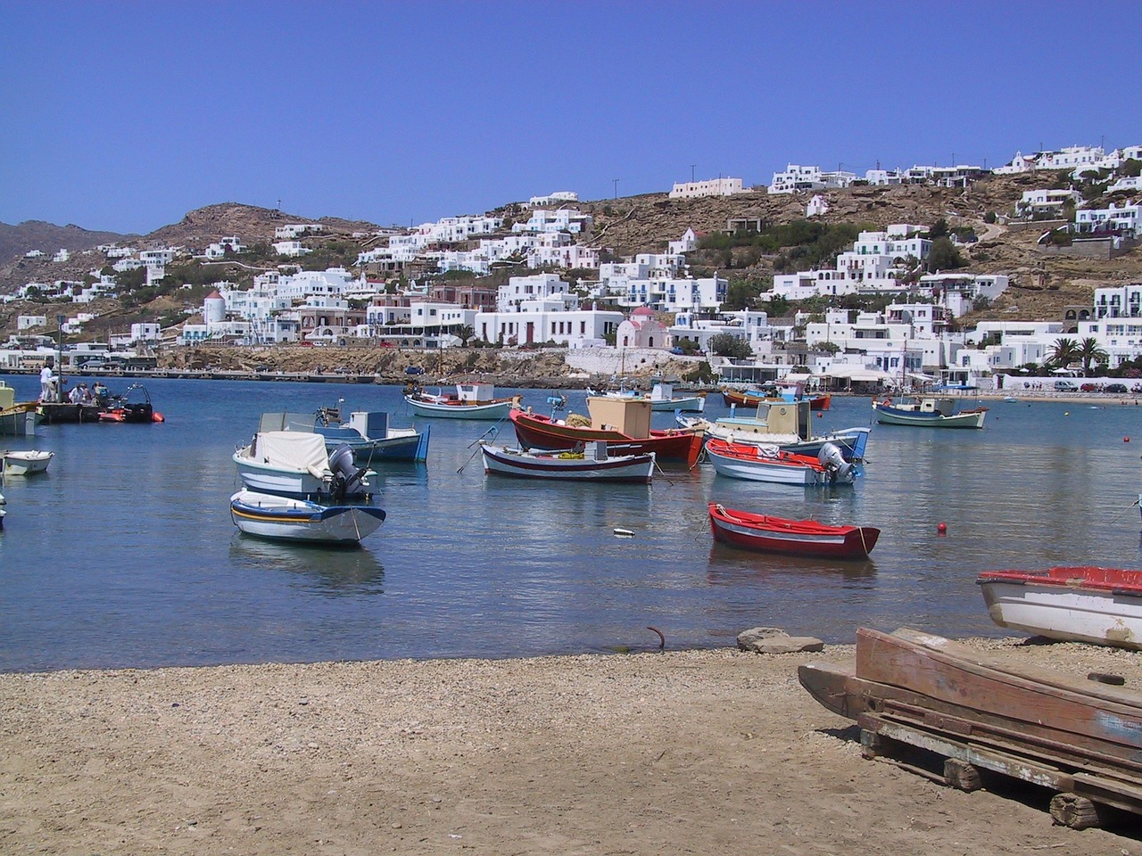
<path id="1" fill-rule="evenodd" d="M 5 380 L 17 399 L 38 394 L 35 378 Z M 432 426 L 428 462 L 380 473 L 385 525 L 361 549 L 322 550 L 234 528 L 230 457 L 263 411 L 341 397 L 408 425 L 400 388 L 146 386 L 166 423 L 0 439 L 56 453 L 47 475 L 2 488 L 0 670 L 604 652 L 657 646 L 648 625 L 670 648 L 732 645 L 758 624 L 826 641 L 860 625 L 998 636 L 979 571 L 1142 566 L 1136 407 L 995 403 L 980 431 L 876 426 L 864 476 L 833 490 L 682 465 L 653 485 L 485 477 L 473 443 L 491 423 L 416 420 Z M 544 411 L 545 390 L 520 391 Z M 586 412 L 581 393 L 569 404 Z M 709 404 L 724 412 L 719 396 Z M 814 425 L 869 414 L 867 398 L 835 399 Z M 499 438 L 514 439 L 510 426 Z M 882 535 L 856 564 L 740 552 L 713 544 L 708 500 Z"/>

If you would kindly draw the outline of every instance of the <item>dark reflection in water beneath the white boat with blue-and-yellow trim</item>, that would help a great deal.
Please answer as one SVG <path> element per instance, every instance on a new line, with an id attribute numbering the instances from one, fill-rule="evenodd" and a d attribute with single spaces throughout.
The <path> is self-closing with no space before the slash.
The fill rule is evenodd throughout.
<path id="1" fill-rule="evenodd" d="M 364 547 L 280 543 L 235 532 L 230 555 L 235 564 L 300 574 L 305 588 L 328 597 L 385 592 L 385 568 Z"/>

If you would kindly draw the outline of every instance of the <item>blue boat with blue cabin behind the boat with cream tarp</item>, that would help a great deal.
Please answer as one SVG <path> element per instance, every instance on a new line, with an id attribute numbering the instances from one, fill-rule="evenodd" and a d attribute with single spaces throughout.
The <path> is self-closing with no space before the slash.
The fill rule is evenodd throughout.
<path id="1" fill-rule="evenodd" d="M 316 413 L 263 413 L 258 430 L 317 434 L 328 452 L 346 445 L 354 460 L 365 467 L 379 461 L 424 461 L 431 434 L 428 429 L 394 428 L 384 411 L 354 411 L 343 422 L 340 407 L 321 407 Z"/>

